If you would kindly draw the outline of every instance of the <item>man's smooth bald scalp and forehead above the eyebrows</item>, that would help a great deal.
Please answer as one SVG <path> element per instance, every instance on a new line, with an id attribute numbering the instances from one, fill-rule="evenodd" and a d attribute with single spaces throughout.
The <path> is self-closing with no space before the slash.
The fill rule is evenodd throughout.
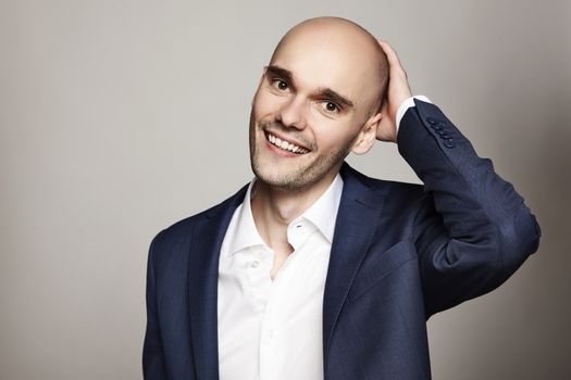
<path id="1" fill-rule="evenodd" d="M 315 65 L 349 71 L 365 86 L 369 110 L 381 110 L 388 85 L 388 61 L 376 38 L 360 25 L 340 17 L 301 22 L 282 37 L 270 64 L 291 54 L 305 54 Z"/>

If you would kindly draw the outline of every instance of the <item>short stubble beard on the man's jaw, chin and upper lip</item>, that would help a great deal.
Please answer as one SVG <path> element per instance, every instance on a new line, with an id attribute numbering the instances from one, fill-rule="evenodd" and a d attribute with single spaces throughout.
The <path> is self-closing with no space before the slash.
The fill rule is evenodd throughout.
<path id="1" fill-rule="evenodd" d="M 250 165 L 256 177 L 269 185 L 270 187 L 277 188 L 285 191 L 301 191 L 307 189 L 312 183 L 315 183 L 322 179 L 332 168 L 336 167 L 338 170 L 343 164 L 343 161 L 349 154 L 352 140 L 347 141 L 344 145 L 338 149 L 333 149 L 325 154 L 318 155 L 313 161 L 305 161 L 302 165 L 299 165 L 287 173 L 280 173 L 275 168 L 270 167 L 268 163 L 263 163 L 260 151 L 262 143 L 265 143 L 265 134 L 263 130 L 268 126 L 278 126 L 280 122 L 275 119 L 262 119 L 257 126 L 253 119 L 253 109 L 250 114 L 250 129 L 249 129 L 249 142 L 250 142 Z M 285 127 L 281 127 L 285 129 Z M 260 130 L 260 138 L 263 141 L 257 141 L 257 131 Z M 314 144 L 313 144 L 314 145 Z M 312 147 L 313 148 L 313 147 Z M 312 154 L 313 152 L 307 153 Z"/>

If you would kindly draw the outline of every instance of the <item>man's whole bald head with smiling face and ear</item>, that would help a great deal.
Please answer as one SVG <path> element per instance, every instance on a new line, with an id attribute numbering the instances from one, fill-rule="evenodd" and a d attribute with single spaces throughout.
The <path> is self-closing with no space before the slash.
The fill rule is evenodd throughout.
<path id="1" fill-rule="evenodd" d="M 386 71 L 376 40 L 355 24 L 294 27 L 264 68 L 250 114 L 252 169 L 284 190 L 326 186 L 351 151 L 367 152 Z"/>

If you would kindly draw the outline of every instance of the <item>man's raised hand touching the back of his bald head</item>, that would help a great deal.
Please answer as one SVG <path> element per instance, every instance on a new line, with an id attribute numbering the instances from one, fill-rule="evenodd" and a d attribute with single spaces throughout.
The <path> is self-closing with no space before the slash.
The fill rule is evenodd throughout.
<path id="1" fill-rule="evenodd" d="M 378 45 L 388 59 L 388 90 L 381 107 L 383 118 L 376 129 L 376 139 L 397 142 L 397 111 L 405 100 L 412 97 L 412 92 L 397 52 L 386 41 L 378 40 Z"/>

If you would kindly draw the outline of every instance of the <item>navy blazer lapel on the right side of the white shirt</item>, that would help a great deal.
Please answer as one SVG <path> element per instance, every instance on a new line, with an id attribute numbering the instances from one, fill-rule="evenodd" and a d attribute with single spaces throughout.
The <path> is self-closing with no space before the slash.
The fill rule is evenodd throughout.
<path id="1" fill-rule="evenodd" d="M 344 187 L 323 296 L 324 364 L 335 324 L 377 229 L 384 202 L 384 195 L 368 188 L 359 178 L 365 177 L 349 165 L 344 164 L 340 174 Z"/>

